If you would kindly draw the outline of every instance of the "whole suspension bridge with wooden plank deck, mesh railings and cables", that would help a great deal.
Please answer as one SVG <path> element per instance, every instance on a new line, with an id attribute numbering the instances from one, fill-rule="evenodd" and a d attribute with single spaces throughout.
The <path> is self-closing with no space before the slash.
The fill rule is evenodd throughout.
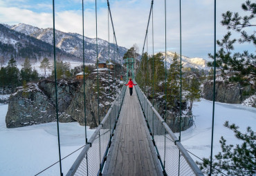
<path id="1" fill-rule="evenodd" d="M 216 1 L 214 8 L 214 29 L 216 29 Z M 113 26 L 113 19 L 109 1 L 108 6 L 108 32 L 109 23 L 111 22 L 113 30 L 113 40 L 116 44 L 116 52 L 118 53 L 118 43 L 116 33 Z M 148 38 L 149 22 L 152 19 L 152 46 L 154 53 L 154 24 L 153 24 L 154 0 L 151 1 L 149 10 L 149 19 L 147 21 L 147 29 L 144 39 L 143 53 L 145 43 Z M 98 27 L 97 27 L 97 1 L 95 1 L 95 21 L 96 21 L 96 44 L 98 46 Z M 83 26 L 83 41 L 84 41 L 84 1 L 82 0 L 82 26 Z M 180 1 L 180 39 L 181 39 L 181 1 Z M 214 51 L 216 52 L 216 30 L 214 30 Z M 53 43 L 54 43 L 54 61 L 55 61 L 55 1 L 53 0 Z M 110 43 L 110 41 L 109 41 Z M 181 44 L 181 42 L 180 42 Z M 214 53 L 215 53 L 214 52 Z M 98 63 L 98 47 L 96 49 Z M 142 53 L 142 54 L 143 54 Z M 147 52 L 148 53 L 148 52 Z M 165 53 L 166 53 L 166 1 L 165 1 Z M 181 53 L 180 53 L 181 55 Z M 84 63 L 84 43 L 83 43 L 83 63 Z M 153 67 L 154 67 L 154 55 Z M 166 55 L 165 55 L 166 57 Z M 120 58 L 120 57 L 119 57 Z M 130 58 L 131 59 L 131 58 Z M 129 72 L 132 78 L 136 80 L 134 74 L 134 60 L 128 64 L 127 59 L 127 79 Z M 110 61 L 110 58 L 109 58 Z M 180 59 L 181 61 L 181 59 Z M 121 63 L 121 61 L 120 61 Z M 131 68 L 128 68 L 131 66 Z M 165 58 L 165 75 L 166 75 L 166 58 Z M 110 72 L 109 72 L 110 74 Z M 154 70 L 153 70 L 154 75 Z M 99 74 L 97 74 L 99 77 Z M 134 81 L 135 81 L 134 80 Z M 215 80 L 215 67 L 214 67 Z M 154 80 L 153 80 L 154 81 Z M 55 84 L 56 67 L 55 67 Z M 215 82 L 214 82 L 215 84 Z M 98 82 L 99 85 L 99 82 Z M 85 87 L 85 76 L 84 76 Z M 57 86 L 56 89 L 56 105 L 57 105 Z M 165 77 L 165 93 L 166 93 L 166 77 Z M 85 91 L 85 88 L 84 88 Z M 99 96 L 99 86 L 97 88 Z M 140 89 L 140 83 L 134 86 L 134 94 L 129 95 L 126 86 L 122 86 L 118 96 L 111 104 L 104 119 L 98 119 L 99 126 L 90 139 L 86 137 L 85 128 L 85 144 L 73 163 L 73 166 L 68 170 L 66 175 L 203 175 L 199 167 L 188 154 L 181 144 L 181 128 L 179 138 L 174 135 L 170 127 L 165 123 L 164 117 L 161 117 L 154 108 L 154 88 L 153 104 L 145 96 L 145 92 Z M 214 90 L 213 90 L 214 92 Z M 166 96 L 165 96 L 166 97 Z M 214 96 L 213 96 L 214 98 Z M 84 92 L 84 102 L 86 92 Z M 214 102 L 214 99 L 213 99 Z M 99 97 L 98 97 L 99 104 Z M 84 106 L 85 103 L 84 103 Z M 181 104 L 180 104 L 181 106 Z M 86 124 L 86 108 L 84 107 L 84 121 Z M 98 110 L 99 111 L 99 110 Z M 213 106 L 214 112 L 214 106 Z M 59 162 L 60 175 L 62 172 L 62 157 L 60 152 L 60 132 L 57 114 L 57 132 L 59 144 Z M 99 116 L 99 112 L 98 112 Z M 181 118 L 181 107 L 180 107 Z M 181 123 L 181 119 L 180 119 Z M 214 113 L 212 115 L 212 134 L 214 124 Z M 211 145 L 212 146 L 212 145 Z M 212 149 L 212 148 L 211 148 Z M 212 173 L 212 150 L 210 173 Z M 47 170 L 46 168 L 45 170 Z M 44 170 L 37 175 L 44 173 Z"/>

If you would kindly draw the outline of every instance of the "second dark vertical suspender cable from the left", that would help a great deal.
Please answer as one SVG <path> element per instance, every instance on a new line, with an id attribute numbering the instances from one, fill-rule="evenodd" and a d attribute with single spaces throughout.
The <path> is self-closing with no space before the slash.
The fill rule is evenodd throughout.
<path id="1" fill-rule="evenodd" d="M 84 132 L 85 132 L 85 144 L 87 144 L 87 134 L 86 134 L 86 96 L 85 96 L 85 66 L 84 66 L 84 0 L 82 0 L 82 61 L 84 68 Z"/>

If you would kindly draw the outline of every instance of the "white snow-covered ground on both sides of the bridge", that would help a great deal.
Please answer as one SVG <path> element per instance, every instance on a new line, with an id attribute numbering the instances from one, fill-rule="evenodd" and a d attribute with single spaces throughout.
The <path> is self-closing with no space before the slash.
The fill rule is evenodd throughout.
<path id="1" fill-rule="evenodd" d="M 35 175 L 59 159 L 56 123 L 6 128 L 5 117 L 8 105 L 0 104 L 0 175 Z M 210 156 L 212 101 L 201 99 L 194 103 L 195 126 L 181 133 L 181 143 L 187 150 L 199 157 Z M 231 130 L 224 127 L 225 121 L 237 124 L 241 131 L 247 126 L 256 130 L 256 108 L 240 104 L 215 104 L 214 148 L 221 151 L 219 139 L 223 136 L 228 144 L 237 144 Z M 88 130 L 89 137 L 94 130 Z M 60 124 L 62 157 L 84 145 L 84 127 L 76 122 Z M 179 133 L 176 134 L 179 136 Z M 81 150 L 62 161 L 66 175 Z M 196 160 L 195 157 L 192 157 Z M 198 159 L 197 159 L 198 160 Z M 59 175 L 59 164 L 41 175 Z"/>

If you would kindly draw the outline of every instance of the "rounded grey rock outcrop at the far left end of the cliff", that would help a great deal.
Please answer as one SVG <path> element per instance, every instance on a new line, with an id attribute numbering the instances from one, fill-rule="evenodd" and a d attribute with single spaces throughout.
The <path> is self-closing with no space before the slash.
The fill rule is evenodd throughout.
<path id="1" fill-rule="evenodd" d="M 37 84 L 28 84 L 27 90 L 19 87 L 15 94 L 10 95 L 7 128 L 42 124 L 55 119 L 55 107 Z"/>

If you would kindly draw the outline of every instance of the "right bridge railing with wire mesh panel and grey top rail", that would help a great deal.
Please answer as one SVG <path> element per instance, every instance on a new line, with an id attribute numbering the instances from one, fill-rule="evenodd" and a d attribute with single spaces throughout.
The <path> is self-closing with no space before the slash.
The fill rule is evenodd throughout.
<path id="1" fill-rule="evenodd" d="M 166 175 L 203 175 L 194 160 L 152 106 L 139 86 L 135 86 L 147 127 Z"/>

